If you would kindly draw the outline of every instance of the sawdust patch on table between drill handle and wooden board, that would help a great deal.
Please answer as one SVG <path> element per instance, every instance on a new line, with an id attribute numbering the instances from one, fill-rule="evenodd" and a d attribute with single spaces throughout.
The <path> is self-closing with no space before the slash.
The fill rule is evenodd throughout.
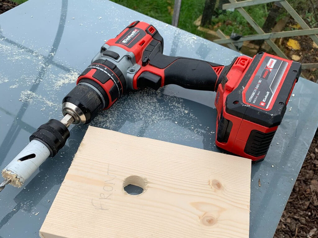
<path id="1" fill-rule="evenodd" d="M 164 120 L 175 122 L 181 118 L 184 120 L 184 117 L 195 118 L 188 112 L 182 98 L 165 95 L 162 89 L 143 89 L 123 95 L 110 109 L 101 112 L 91 125 L 115 130 L 127 120 L 155 124 Z"/>

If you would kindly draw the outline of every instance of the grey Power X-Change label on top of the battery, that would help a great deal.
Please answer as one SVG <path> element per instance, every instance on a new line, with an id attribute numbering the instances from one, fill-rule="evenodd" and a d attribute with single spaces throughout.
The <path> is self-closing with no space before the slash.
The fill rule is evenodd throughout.
<path id="1" fill-rule="evenodd" d="M 287 65 L 286 61 L 266 56 L 245 92 L 246 102 L 268 109 Z"/>

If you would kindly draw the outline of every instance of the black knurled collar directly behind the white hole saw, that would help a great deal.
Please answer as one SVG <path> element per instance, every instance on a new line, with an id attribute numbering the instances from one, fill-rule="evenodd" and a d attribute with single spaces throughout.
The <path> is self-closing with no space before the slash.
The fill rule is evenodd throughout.
<path id="1" fill-rule="evenodd" d="M 50 156 L 55 156 L 66 143 L 70 132 L 60 121 L 51 119 L 41 125 L 31 136 L 30 141 L 38 140 L 50 150 Z"/>

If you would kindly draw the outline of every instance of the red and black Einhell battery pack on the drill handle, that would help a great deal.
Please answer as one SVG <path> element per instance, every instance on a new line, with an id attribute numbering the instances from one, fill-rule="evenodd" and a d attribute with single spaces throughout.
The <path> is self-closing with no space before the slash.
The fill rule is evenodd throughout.
<path id="1" fill-rule="evenodd" d="M 219 80 L 216 145 L 264 159 L 300 73 L 301 63 L 263 52 L 235 58 Z"/>

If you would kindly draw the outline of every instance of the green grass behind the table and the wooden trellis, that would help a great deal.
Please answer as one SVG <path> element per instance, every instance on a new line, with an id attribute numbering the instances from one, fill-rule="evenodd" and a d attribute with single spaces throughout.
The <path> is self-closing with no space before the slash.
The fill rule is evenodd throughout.
<path id="1" fill-rule="evenodd" d="M 13 0 L 17 3 L 23 3 L 27 0 Z M 157 20 L 171 24 L 173 4 L 174 0 L 111 0 L 114 3 L 118 3 L 122 6 L 145 14 L 149 17 L 153 17 Z M 307 0 L 297 0 L 294 3 L 294 7 L 299 7 Z M 198 36 L 204 36 L 204 33 L 197 30 L 197 26 L 193 22 L 202 15 L 205 0 L 183 0 L 181 5 L 179 28 L 196 34 Z M 254 21 L 262 27 L 265 19 L 268 15 L 268 9 L 270 9 L 272 3 L 259 4 L 255 6 L 245 7 L 244 9 L 250 14 Z M 308 4 L 308 3 L 307 3 Z M 297 6 L 296 6 L 297 5 Z M 225 35 L 230 35 L 232 31 L 242 35 L 256 34 L 255 30 L 247 23 L 245 18 L 237 11 L 234 12 L 224 11 L 220 12 L 218 17 L 213 17 L 211 26 L 208 26 L 212 30 L 222 30 Z M 286 13 L 282 13 L 280 18 L 285 16 Z"/>

